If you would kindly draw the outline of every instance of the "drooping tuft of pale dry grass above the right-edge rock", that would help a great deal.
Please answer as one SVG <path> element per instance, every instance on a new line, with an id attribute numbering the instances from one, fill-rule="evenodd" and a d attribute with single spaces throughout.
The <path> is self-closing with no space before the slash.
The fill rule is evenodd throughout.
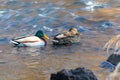
<path id="1" fill-rule="evenodd" d="M 104 46 L 104 50 L 107 50 L 107 53 L 109 53 L 109 50 L 112 49 L 115 52 L 118 52 L 120 49 L 120 35 L 112 37 Z"/>

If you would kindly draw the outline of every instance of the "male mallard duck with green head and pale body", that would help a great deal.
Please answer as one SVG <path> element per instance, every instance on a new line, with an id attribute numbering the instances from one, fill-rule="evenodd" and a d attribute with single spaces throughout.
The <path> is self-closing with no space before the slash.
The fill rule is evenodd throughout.
<path id="1" fill-rule="evenodd" d="M 34 36 L 12 39 L 11 43 L 14 44 L 15 46 L 43 47 L 46 46 L 47 44 L 45 39 L 49 39 L 49 37 L 46 34 L 44 34 L 41 30 L 39 30 L 36 32 Z"/>

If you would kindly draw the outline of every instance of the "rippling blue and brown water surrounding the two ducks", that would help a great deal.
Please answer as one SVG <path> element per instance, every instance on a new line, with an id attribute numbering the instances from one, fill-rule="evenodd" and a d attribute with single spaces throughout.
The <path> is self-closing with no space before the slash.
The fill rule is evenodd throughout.
<path id="1" fill-rule="evenodd" d="M 99 80 L 109 72 L 99 68 L 106 60 L 102 47 L 120 33 L 120 0 L 1 0 L 0 80 L 50 80 L 63 68 L 86 67 Z M 52 38 L 76 27 L 81 42 L 72 46 L 16 48 L 11 38 L 34 35 L 39 29 Z"/>

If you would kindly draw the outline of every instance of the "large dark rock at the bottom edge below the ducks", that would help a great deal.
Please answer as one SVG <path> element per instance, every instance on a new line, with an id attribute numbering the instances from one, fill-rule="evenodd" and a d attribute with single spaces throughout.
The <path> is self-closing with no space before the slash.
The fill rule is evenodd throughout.
<path id="1" fill-rule="evenodd" d="M 50 80 L 98 80 L 94 73 L 86 68 L 63 69 L 52 73 Z"/>

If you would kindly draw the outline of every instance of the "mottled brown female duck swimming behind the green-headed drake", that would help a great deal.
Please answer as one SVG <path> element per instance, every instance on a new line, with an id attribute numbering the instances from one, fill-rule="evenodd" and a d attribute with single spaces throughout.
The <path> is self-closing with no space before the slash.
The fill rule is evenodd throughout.
<path id="1" fill-rule="evenodd" d="M 57 34 L 53 41 L 53 45 L 71 45 L 80 41 L 79 33 L 76 28 L 71 28 L 67 32 Z"/>

